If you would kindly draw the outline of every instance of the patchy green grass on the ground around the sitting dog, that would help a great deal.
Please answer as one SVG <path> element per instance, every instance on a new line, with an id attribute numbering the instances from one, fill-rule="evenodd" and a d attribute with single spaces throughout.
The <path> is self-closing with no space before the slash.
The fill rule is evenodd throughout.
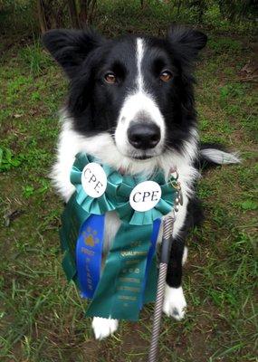
<path id="1" fill-rule="evenodd" d="M 164 33 L 168 15 L 161 10 L 107 5 L 96 24 L 108 35 Z M 256 360 L 257 114 L 253 84 L 239 81 L 253 58 L 252 36 L 216 27 L 208 29 L 210 41 L 196 72 L 201 138 L 223 140 L 241 152 L 243 162 L 210 170 L 199 182 L 206 219 L 189 238 L 186 319 L 163 319 L 165 362 Z M 8 42 L 6 37 L 0 68 L 0 359 L 145 361 L 153 308 L 143 310 L 139 323 L 123 322 L 113 338 L 97 342 L 83 317 L 85 302 L 65 281 L 58 241 L 62 201 L 48 173 L 66 81 L 36 37 Z"/>

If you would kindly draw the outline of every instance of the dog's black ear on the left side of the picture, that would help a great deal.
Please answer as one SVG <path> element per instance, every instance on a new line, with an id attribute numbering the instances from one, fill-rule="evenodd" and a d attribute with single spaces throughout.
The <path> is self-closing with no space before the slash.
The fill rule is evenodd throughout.
<path id="1" fill-rule="evenodd" d="M 50 30 L 43 34 L 43 45 L 72 78 L 89 52 L 103 43 L 103 38 L 90 30 Z"/>

